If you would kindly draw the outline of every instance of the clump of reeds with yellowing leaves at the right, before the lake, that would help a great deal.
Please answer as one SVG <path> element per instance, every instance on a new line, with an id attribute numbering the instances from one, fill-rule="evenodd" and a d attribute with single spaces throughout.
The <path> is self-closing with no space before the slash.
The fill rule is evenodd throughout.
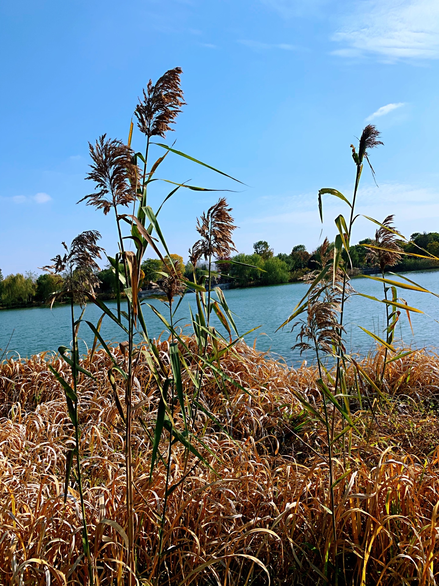
<path id="1" fill-rule="evenodd" d="M 369 168 L 372 171 L 373 178 L 375 179 L 375 173 L 373 171 L 371 162 L 369 161 L 369 156 L 371 149 L 382 145 L 382 141 L 380 141 L 380 133 L 373 125 L 367 125 L 361 134 L 361 138 L 359 139 L 358 144 L 358 151 L 351 145 L 352 148 L 352 158 L 354 159 L 354 163 L 356 166 L 356 175 L 355 175 L 355 184 L 354 184 L 354 194 L 352 197 L 352 201 L 349 201 L 347 197 L 345 197 L 341 192 L 337 189 L 332 188 L 324 188 L 320 189 L 318 192 L 318 209 L 320 213 L 320 219 L 323 222 L 323 195 L 332 195 L 337 197 L 338 199 L 342 200 L 349 207 L 349 221 L 345 220 L 345 217 L 342 214 L 339 214 L 335 219 L 335 226 L 337 227 L 337 233 L 335 235 L 334 240 L 334 251 L 331 254 L 331 257 L 325 258 L 325 250 L 327 249 L 327 240 L 324 241 L 321 248 L 323 249 L 323 254 L 321 254 L 322 262 L 320 267 L 317 270 L 313 271 L 310 275 L 307 276 L 307 281 L 310 284 L 310 288 L 307 291 L 307 294 L 299 301 L 296 307 L 293 310 L 293 313 L 287 318 L 287 320 L 280 326 L 281 328 L 286 326 L 290 323 L 294 318 L 302 314 L 304 311 L 308 312 L 308 318 L 306 325 L 302 326 L 299 336 L 301 336 L 301 342 L 299 346 L 305 347 L 307 343 L 303 341 L 303 337 L 313 340 L 313 346 L 315 349 L 315 354 L 317 356 L 317 363 L 318 369 L 320 370 L 321 374 L 321 361 L 319 357 L 319 352 L 321 351 L 318 347 L 318 336 L 317 336 L 317 322 L 316 316 L 319 315 L 319 312 L 323 311 L 323 307 L 321 304 L 321 295 L 324 291 L 325 295 L 329 295 L 329 291 L 331 291 L 331 295 L 337 298 L 337 304 L 331 305 L 331 310 L 327 309 L 328 314 L 331 315 L 330 320 L 330 335 L 332 336 L 331 347 L 327 347 L 327 353 L 329 353 L 335 359 L 335 377 L 332 377 L 330 373 L 327 371 L 324 372 L 324 377 L 320 376 L 318 380 L 318 387 L 321 390 L 323 395 L 323 404 L 324 404 L 324 411 L 325 411 L 325 426 L 328 425 L 328 418 L 326 417 L 327 409 L 325 405 L 326 398 L 328 398 L 332 403 L 332 418 L 331 418 L 331 425 L 330 429 L 327 428 L 327 445 L 328 445 L 328 458 L 329 458 L 329 468 L 330 468 L 330 492 L 333 490 L 334 486 L 339 482 L 339 479 L 335 479 L 332 477 L 332 461 L 335 458 L 335 454 L 342 458 L 342 461 L 346 461 L 346 456 L 348 455 L 348 460 L 351 459 L 351 447 L 352 447 L 352 433 L 354 430 L 358 430 L 360 418 L 352 418 L 351 417 L 351 403 L 352 397 L 354 396 L 353 393 L 356 393 L 360 400 L 360 406 L 362 406 L 362 402 L 366 401 L 366 404 L 370 410 L 371 422 L 369 423 L 368 427 L 368 434 L 367 434 L 367 444 L 371 438 L 372 434 L 372 427 L 373 422 L 378 423 L 376 420 L 376 410 L 378 408 L 378 402 L 380 399 L 387 401 L 387 397 L 383 393 L 383 380 L 385 379 L 386 373 L 386 366 L 387 363 L 393 362 L 395 360 L 399 360 L 402 357 L 402 353 L 392 345 L 393 336 L 395 331 L 395 326 L 397 321 L 400 318 L 401 310 L 407 314 L 408 321 L 411 326 L 410 321 L 410 312 L 418 312 L 422 313 L 420 309 L 414 308 L 409 306 L 406 301 L 399 297 L 397 292 L 397 288 L 402 289 L 410 289 L 415 291 L 424 291 L 429 292 L 427 289 L 420 287 L 420 285 L 416 284 L 413 281 L 407 280 L 406 277 L 399 275 L 402 277 L 401 280 L 389 280 L 389 278 L 385 277 L 385 270 L 386 267 L 391 267 L 400 260 L 404 251 L 402 248 L 399 247 L 397 244 L 397 239 L 406 240 L 402 234 L 397 231 L 392 224 L 393 216 L 388 216 L 384 220 L 383 223 L 378 222 L 371 217 L 367 217 L 368 220 L 371 222 L 378 224 L 379 229 L 376 230 L 375 240 L 372 241 L 370 244 L 364 244 L 363 246 L 368 247 L 369 253 L 368 257 L 373 261 L 373 264 L 378 265 L 380 271 L 382 273 L 381 278 L 373 277 L 372 275 L 365 275 L 368 278 L 371 278 L 376 281 L 380 281 L 383 284 L 384 288 L 384 298 L 378 299 L 376 297 L 371 297 L 370 295 L 364 295 L 359 292 L 354 291 L 351 285 L 349 284 L 349 268 L 352 269 L 352 263 L 349 256 L 349 242 L 351 241 L 352 236 L 352 228 L 354 226 L 355 220 L 358 218 L 359 214 L 355 214 L 355 204 L 358 198 L 358 189 L 359 189 L 359 182 L 362 175 L 363 170 L 363 163 L 366 161 L 369 165 Z M 423 251 L 428 255 L 427 251 Z M 419 255 L 422 256 L 422 255 Z M 427 258 L 423 256 L 423 258 Z M 331 275 L 331 283 L 328 283 L 329 275 Z M 389 289 L 392 291 L 392 297 L 388 298 L 387 294 Z M 359 325 L 359 328 L 362 329 L 363 332 L 367 333 L 371 338 L 378 342 L 379 345 L 382 345 L 384 348 L 383 352 L 383 363 L 380 368 L 380 372 L 378 370 L 374 373 L 368 373 L 365 369 L 359 364 L 358 360 L 352 353 L 347 353 L 344 343 L 343 343 L 343 332 L 344 332 L 344 314 L 345 314 L 345 305 L 349 298 L 355 297 L 356 295 L 360 295 L 362 297 L 368 297 L 369 299 L 373 299 L 373 301 L 380 302 L 385 304 L 386 307 L 386 326 L 385 332 L 383 334 L 383 338 L 379 335 L 368 331 L 363 326 Z M 323 320 L 323 323 L 325 321 Z M 324 329 L 324 332 L 325 329 Z M 390 360 L 387 359 L 387 353 L 392 352 L 392 358 Z M 356 377 L 355 377 L 355 387 L 352 387 L 348 384 L 348 367 L 349 364 L 352 364 L 356 369 Z M 325 380 L 324 380 L 325 379 Z M 360 389 L 363 391 L 363 401 L 361 400 L 361 392 Z M 369 391 L 368 391 L 369 389 Z M 314 407 L 310 403 L 310 401 L 304 401 L 304 406 L 313 413 Z M 335 421 L 336 421 L 336 414 L 340 413 L 342 415 L 342 430 L 339 434 L 335 432 Z M 346 434 L 348 434 L 348 454 L 345 451 L 345 438 Z M 341 442 L 341 445 L 340 445 Z M 332 492 L 331 492 L 332 495 Z M 331 496 L 332 499 L 332 496 Z M 334 567 L 334 574 L 332 576 L 335 583 L 337 583 L 339 578 L 339 564 L 338 564 L 338 556 L 337 556 L 337 523 L 336 523 L 336 515 L 335 515 L 335 502 L 331 500 L 331 514 L 333 520 L 332 530 L 334 533 L 334 558 L 332 559 L 332 564 Z"/>

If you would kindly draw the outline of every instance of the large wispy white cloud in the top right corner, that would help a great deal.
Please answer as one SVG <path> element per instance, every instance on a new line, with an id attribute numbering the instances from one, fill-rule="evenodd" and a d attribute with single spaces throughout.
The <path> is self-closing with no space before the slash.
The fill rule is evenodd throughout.
<path id="1" fill-rule="evenodd" d="M 334 54 L 376 54 L 386 62 L 439 59 L 438 0 L 363 0 L 332 37 Z"/>

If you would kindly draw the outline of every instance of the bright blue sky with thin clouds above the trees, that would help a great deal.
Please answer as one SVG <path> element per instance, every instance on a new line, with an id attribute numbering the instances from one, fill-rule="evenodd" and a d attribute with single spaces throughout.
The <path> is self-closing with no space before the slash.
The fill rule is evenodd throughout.
<path id="1" fill-rule="evenodd" d="M 228 193 L 236 248 L 317 246 L 319 188 L 349 196 L 349 145 L 372 121 L 379 188 L 365 169 L 358 212 L 439 231 L 437 0 L 27 0 L 0 4 L 0 267 L 36 270 L 86 229 L 115 231 L 76 202 L 90 193 L 87 142 L 126 139 L 142 87 L 183 69 L 176 147 L 248 187 L 171 156 L 161 176 Z M 133 147 L 143 151 L 136 132 Z M 155 186 L 159 205 L 166 187 Z M 218 195 L 181 190 L 160 223 L 187 256 Z M 323 236 L 345 210 L 324 202 Z M 359 219 L 354 241 L 374 229 Z"/>

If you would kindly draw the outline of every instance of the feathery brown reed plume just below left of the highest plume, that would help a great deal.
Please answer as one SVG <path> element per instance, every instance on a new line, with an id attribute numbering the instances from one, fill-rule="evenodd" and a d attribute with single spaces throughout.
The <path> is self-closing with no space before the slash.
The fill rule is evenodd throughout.
<path id="1" fill-rule="evenodd" d="M 106 140 L 106 136 L 102 134 L 94 146 L 88 143 L 92 164 L 86 179 L 94 181 L 97 191 L 77 202 L 87 201 L 88 206 L 104 210 L 104 214 L 135 200 L 138 177 L 132 149 L 118 139 Z"/>

